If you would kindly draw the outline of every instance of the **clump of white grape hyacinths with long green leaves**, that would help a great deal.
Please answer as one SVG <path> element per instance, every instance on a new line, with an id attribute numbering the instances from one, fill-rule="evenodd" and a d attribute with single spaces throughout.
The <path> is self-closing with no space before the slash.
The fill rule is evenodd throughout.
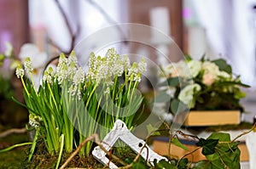
<path id="1" fill-rule="evenodd" d="M 91 134 L 104 136 L 117 119 L 132 129 L 136 113 L 143 112 L 138 110 L 143 96 L 137 94 L 137 86 L 146 70 L 145 59 L 131 65 L 128 56 L 120 57 L 111 48 L 104 58 L 91 53 L 85 73 L 74 52 L 68 58 L 61 54 L 56 69 L 45 70 L 38 89 L 32 70 L 30 58 L 16 69 L 24 87 L 29 124 L 36 129 L 32 152 L 38 137 L 43 137 L 50 155 L 61 156 L 62 150 L 71 153 Z M 89 155 L 91 146 L 87 143 L 79 155 Z"/>

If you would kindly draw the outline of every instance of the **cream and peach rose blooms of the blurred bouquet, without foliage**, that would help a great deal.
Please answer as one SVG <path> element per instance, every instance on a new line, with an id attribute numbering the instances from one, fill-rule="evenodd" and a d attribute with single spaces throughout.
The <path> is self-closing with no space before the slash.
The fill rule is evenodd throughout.
<path id="1" fill-rule="evenodd" d="M 187 104 L 189 108 L 195 106 L 195 99 L 193 98 L 195 93 L 201 91 L 201 84 L 205 86 L 211 86 L 217 81 L 233 81 L 233 76 L 224 70 L 219 70 L 218 65 L 210 60 L 180 60 L 177 63 L 172 63 L 163 68 L 167 77 L 178 77 L 180 80 L 181 91 L 178 94 L 178 99 L 184 104 Z M 197 79 L 197 80 L 195 80 Z M 200 81 L 201 83 L 198 83 Z M 170 88 L 164 88 L 166 91 Z M 172 97 L 173 91 L 176 91 L 176 87 L 171 87 Z"/>

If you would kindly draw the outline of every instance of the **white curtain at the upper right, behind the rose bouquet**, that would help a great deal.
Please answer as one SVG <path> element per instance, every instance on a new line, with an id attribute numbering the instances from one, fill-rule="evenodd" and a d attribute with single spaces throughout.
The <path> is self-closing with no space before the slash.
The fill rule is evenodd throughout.
<path id="1" fill-rule="evenodd" d="M 192 0 L 216 54 L 230 61 L 242 82 L 256 87 L 256 0 Z"/>

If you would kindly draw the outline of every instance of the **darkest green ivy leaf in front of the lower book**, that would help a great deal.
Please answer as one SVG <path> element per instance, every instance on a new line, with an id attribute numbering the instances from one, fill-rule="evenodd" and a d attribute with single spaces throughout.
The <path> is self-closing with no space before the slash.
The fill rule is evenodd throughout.
<path id="1" fill-rule="evenodd" d="M 218 139 L 204 139 L 200 138 L 199 142 L 196 143 L 197 146 L 202 147 L 201 153 L 203 155 L 212 155 L 215 153 L 215 147 L 218 144 Z"/>

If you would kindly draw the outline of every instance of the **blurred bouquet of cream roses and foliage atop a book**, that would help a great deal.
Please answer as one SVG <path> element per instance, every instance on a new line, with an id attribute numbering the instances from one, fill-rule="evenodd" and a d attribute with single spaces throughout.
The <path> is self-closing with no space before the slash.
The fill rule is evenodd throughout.
<path id="1" fill-rule="evenodd" d="M 231 66 L 224 59 L 185 59 L 162 68 L 163 91 L 171 98 L 173 114 L 191 110 L 241 110 L 240 99 L 246 96 L 240 87 L 240 76 L 234 76 Z M 162 75 L 163 76 L 163 75 Z M 177 110 L 178 105 L 180 108 Z"/>

